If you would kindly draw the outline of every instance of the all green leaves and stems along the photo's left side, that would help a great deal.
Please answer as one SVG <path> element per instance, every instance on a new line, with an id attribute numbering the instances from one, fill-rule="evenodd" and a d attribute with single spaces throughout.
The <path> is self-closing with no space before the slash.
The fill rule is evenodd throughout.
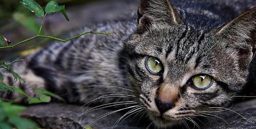
<path id="1" fill-rule="evenodd" d="M 69 18 L 67 16 L 67 13 L 65 12 L 65 5 L 58 5 L 58 3 L 54 0 L 50 1 L 46 7 L 45 10 L 34 0 L 21 0 L 20 2 L 25 8 L 30 10 L 32 13 L 35 13 L 35 15 L 39 18 L 42 18 L 41 24 L 38 24 L 35 18 L 30 13 L 21 13 L 21 12 L 16 12 L 13 14 L 13 18 L 25 26 L 27 29 L 29 29 L 31 32 L 34 32 L 35 35 L 34 37 L 30 37 L 28 39 L 25 39 L 21 42 L 18 42 L 14 45 L 11 45 L 11 42 L 6 39 L 3 35 L 0 34 L 0 49 L 5 49 L 5 48 L 13 48 L 16 47 L 17 45 L 20 45 L 24 42 L 30 41 L 32 39 L 38 38 L 38 37 L 43 37 L 43 38 L 49 38 L 49 39 L 55 39 L 59 40 L 61 42 L 67 42 L 71 39 L 80 37 L 85 34 L 113 34 L 114 32 L 84 32 L 81 34 L 78 34 L 74 37 L 70 37 L 68 39 L 59 39 L 56 37 L 51 37 L 48 35 L 42 35 L 42 26 L 43 26 L 43 20 L 46 17 L 46 15 L 51 14 L 51 13 L 56 13 L 56 12 L 61 12 L 63 16 L 65 16 L 66 20 L 69 21 Z M 1 8 L 0 8 L 0 13 L 1 13 Z M 23 86 L 24 85 L 24 80 L 21 78 L 19 74 L 17 74 L 15 71 L 12 69 L 12 65 L 17 62 L 21 62 L 23 60 L 19 61 L 13 61 L 11 63 L 6 63 L 4 61 L 0 61 L 0 68 L 5 69 L 7 72 L 11 73 L 14 78 L 14 82 L 19 81 L 19 83 Z M 35 94 L 39 95 L 39 98 L 37 97 L 30 97 L 27 95 L 24 91 L 19 89 L 18 87 L 15 86 L 8 86 L 8 84 L 5 84 L 3 82 L 4 76 L 3 73 L 0 72 L 0 93 L 10 91 L 10 92 L 17 92 L 19 95 L 23 95 L 24 97 L 27 97 L 29 99 L 29 104 L 34 104 L 34 103 L 48 103 L 51 101 L 51 97 L 57 98 L 59 100 L 65 101 L 62 97 L 55 95 L 52 92 L 49 92 L 47 90 L 41 90 L 41 89 L 36 89 L 34 90 Z M 15 84 L 15 83 L 14 83 Z M 34 124 L 32 121 L 27 120 L 25 118 L 22 118 L 18 116 L 18 114 L 22 111 L 24 111 L 26 108 L 24 106 L 20 105 L 14 105 L 13 102 L 16 100 L 3 100 L 0 97 L 0 129 L 38 129 L 37 125 Z"/>

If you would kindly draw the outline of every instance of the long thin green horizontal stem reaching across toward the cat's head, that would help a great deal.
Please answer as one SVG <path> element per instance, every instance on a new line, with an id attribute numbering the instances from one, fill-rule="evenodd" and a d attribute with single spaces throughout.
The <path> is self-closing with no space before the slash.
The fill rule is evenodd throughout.
<path id="1" fill-rule="evenodd" d="M 36 35 L 36 36 L 34 36 L 34 37 L 31 37 L 31 38 L 29 38 L 29 39 L 25 39 L 25 40 L 23 40 L 23 41 L 21 41 L 21 42 L 18 42 L 18 43 L 16 43 L 15 45 L 0 47 L 0 49 L 13 48 L 13 47 L 16 47 L 16 46 L 18 46 L 18 45 L 24 43 L 24 42 L 28 42 L 28 41 L 30 41 L 30 40 L 32 40 L 32 39 L 36 39 L 36 38 L 39 38 L 39 37 L 54 39 L 54 40 L 58 40 L 58 41 L 61 41 L 61 42 L 67 42 L 67 41 L 69 41 L 69 40 L 75 39 L 75 38 L 80 37 L 80 36 L 85 35 L 85 34 L 104 34 L 104 35 L 116 34 L 117 36 L 119 36 L 116 32 L 92 32 L 92 31 L 89 31 L 89 32 L 84 32 L 84 33 L 82 33 L 82 34 L 78 34 L 78 35 L 76 35 L 76 36 L 74 36 L 74 37 L 70 37 L 70 38 L 68 38 L 68 39 L 59 39 L 59 38 L 57 38 L 57 37 L 52 37 L 52 36 L 48 36 L 48 35 L 39 35 L 39 34 L 38 34 L 38 35 Z"/>

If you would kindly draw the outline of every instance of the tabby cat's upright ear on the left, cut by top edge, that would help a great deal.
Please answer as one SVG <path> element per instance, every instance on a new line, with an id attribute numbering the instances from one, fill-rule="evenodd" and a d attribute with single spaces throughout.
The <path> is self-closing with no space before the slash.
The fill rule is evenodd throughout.
<path id="1" fill-rule="evenodd" d="M 159 22 L 181 24 L 181 18 L 169 0 L 138 0 L 138 31 Z"/>

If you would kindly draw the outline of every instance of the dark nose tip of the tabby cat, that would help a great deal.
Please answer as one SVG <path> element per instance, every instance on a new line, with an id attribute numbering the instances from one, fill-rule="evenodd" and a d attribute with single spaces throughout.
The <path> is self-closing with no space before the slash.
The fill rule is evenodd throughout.
<path id="1" fill-rule="evenodd" d="M 175 107 L 175 104 L 172 103 L 171 101 L 163 102 L 161 99 L 156 99 L 156 106 L 160 113 L 165 113 L 166 111 L 172 109 Z"/>

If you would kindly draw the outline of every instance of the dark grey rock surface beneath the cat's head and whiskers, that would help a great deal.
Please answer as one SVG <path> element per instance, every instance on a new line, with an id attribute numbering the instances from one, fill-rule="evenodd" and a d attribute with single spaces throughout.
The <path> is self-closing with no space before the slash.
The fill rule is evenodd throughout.
<path id="1" fill-rule="evenodd" d="M 78 117 L 81 113 L 89 109 L 88 107 L 83 107 L 78 111 L 79 108 L 81 108 L 80 105 L 59 103 L 32 105 L 27 108 L 27 111 L 22 113 L 22 116 L 38 122 L 40 126 L 46 129 L 68 129 L 69 127 L 70 129 L 83 129 L 94 118 L 113 111 L 104 109 L 86 113 Z M 221 117 L 223 120 L 217 117 L 199 118 L 202 122 L 197 123 L 201 129 L 256 129 L 256 99 L 238 103 L 231 109 L 246 119 L 237 113 L 227 110 L 224 111 L 223 114 L 218 115 L 218 117 Z M 106 116 L 96 121 L 91 127 L 93 129 L 112 129 L 113 124 L 122 115 L 124 115 L 124 112 Z M 145 122 L 147 121 L 145 118 L 141 118 L 139 122 L 137 122 L 139 117 L 135 117 L 133 120 L 132 118 L 133 116 L 127 118 L 121 124 L 119 123 L 119 125 L 115 126 L 115 129 L 146 129 L 150 124 Z M 72 124 L 73 121 L 74 123 Z M 191 124 L 189 128 L 193 129 L 194 125 Z M 154 127 L 152 126 L 151 129 L 154 129 Z M 184 129 L 186 129 L 186 127 Z M 194 129 L 197 128 L 195 127 Z"/>

